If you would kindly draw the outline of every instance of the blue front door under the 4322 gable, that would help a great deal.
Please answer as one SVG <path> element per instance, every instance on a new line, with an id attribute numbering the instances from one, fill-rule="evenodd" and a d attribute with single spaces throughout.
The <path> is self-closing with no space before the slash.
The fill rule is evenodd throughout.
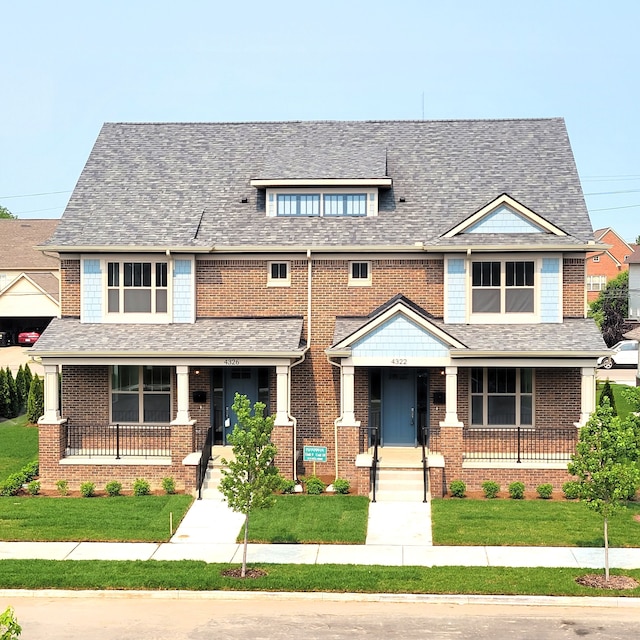
<path id="1" fill-rule="evenodd" d="M 386 369 L 382 377 L 382 445 L 416 444 L 416 372 Z"/>

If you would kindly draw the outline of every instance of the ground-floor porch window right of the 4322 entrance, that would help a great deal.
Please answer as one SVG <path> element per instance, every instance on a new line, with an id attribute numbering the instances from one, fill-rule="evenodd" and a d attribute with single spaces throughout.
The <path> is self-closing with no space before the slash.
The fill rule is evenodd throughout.
<path id="1" fill-rule="evenodd" d="M 532 426 L 533 369 L 471 369 L 472 426 Z"/>

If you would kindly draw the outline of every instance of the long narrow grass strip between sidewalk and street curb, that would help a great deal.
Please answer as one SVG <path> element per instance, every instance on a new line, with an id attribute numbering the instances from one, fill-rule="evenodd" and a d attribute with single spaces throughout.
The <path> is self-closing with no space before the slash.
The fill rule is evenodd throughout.
<path id="1" fill-rule="evenodd" d="M 582 587 L 591 569 L 506 567 L 381 567 L 358 565 L 250 565 L 267 575 L 240 580 L 221 575 L 230 565 L 195 561 L 0 560 L 3 589 L 183 589 L 337 593 L 441 593 L 640 597 Z M 640 580 L 640 570 L 614 571 Z"/>

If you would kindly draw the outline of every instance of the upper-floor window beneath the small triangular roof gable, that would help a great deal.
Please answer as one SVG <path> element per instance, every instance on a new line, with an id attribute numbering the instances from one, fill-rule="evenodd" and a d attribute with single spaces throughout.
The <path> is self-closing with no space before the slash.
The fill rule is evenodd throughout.
<path id="1" fill-rule="evenodd" d="M 471 265 L 473 313 L 534 313 L 535 263 L 477 261 Z"/>

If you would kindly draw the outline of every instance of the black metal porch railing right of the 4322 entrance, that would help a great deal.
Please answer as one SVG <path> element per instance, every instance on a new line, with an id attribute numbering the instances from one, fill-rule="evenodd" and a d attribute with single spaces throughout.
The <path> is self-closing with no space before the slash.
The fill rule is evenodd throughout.
<path id="1" fill-rule="evenodd" d="M 462 438 L 465 460 L 565 462 L 575 452 L 578 430 L 520 427 L 465 429 Z"/>

